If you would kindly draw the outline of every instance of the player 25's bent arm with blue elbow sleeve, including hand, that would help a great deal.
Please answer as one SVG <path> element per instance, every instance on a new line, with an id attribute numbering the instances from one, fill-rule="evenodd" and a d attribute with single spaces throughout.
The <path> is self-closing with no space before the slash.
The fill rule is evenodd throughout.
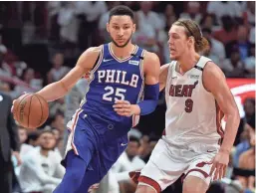
<path id="1" fill-rule="evenodd" d="M 127 100 L 118 100 L 114 105 L 120 115 L 130 116 L 151 113 L 158 101 L 160 62 L 157 55 L 145 52 L 143 60 L 144 98 L 137 104 L 130 104 Z"/>

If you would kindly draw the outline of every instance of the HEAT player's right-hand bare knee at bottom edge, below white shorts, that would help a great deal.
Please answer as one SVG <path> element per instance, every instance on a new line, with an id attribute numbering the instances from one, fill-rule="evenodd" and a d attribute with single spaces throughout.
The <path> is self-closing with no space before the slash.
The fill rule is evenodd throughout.
<path id="1" fill-rule="evenodd" d="M 188 176 L 184 180 L 182 193 L 205 193 L 207 189 L 208 185 L 204 180 L 199 177 Z"/>

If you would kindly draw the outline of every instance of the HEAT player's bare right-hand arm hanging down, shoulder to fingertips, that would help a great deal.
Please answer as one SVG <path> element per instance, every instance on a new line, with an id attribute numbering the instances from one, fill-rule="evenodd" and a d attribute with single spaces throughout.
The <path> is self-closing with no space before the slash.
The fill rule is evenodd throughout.
<path id="1" fill-rule="evenodd" d="M 240 116 L 235 99 L 227 86 L 226 79 L 217 65 L 209 62 L 203 70 L 203 85 L 216 99 L 220 109 L 226 116 L 226 127 L 223 142 L 213 160 L 210 175 L 216 169 L 213 179 L 221 179 L 225 175 L 229 154 L 236 137 Z"/>

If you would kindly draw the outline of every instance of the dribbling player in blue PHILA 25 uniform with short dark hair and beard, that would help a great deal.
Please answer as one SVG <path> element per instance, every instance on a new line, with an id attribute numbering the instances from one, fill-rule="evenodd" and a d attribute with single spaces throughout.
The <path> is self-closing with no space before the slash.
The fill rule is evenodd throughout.
<path id="1" fill-rule="evenodd" d="M 37 93 L 53 101 L 90 74 L 86 97 L 68 123 L 66 174 L 54 193 L 86 193 L 96 187 L 127 148 L 134 116 L 156 107 L 159 60 L 131 44 L 132 11 L 126 6 L 113 8 L 107 30 L 110 44 L 89 48 L 66 77 Z"/>

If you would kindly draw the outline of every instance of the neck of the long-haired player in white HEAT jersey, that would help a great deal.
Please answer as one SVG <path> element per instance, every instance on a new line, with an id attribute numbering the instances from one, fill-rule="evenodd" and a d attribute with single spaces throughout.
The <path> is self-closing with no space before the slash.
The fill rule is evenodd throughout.
<path id="1" fill-rule="evenodd" d="M 199 61 L 200 55 L 197 53 L 191 53 L 188 55 L 183 55 L 178 62 L 178 69 L 177 71 L 180 74 L 185 74 L 187 71 L 192 69 L 196 63 Z"/>

